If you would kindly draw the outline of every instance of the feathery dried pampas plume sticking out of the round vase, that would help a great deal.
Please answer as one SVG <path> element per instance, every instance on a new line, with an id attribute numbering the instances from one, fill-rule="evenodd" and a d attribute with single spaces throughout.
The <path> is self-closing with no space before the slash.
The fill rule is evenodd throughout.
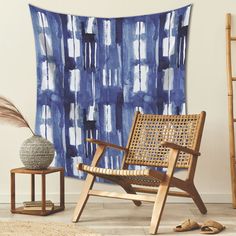
<path id="1" fill-rule="evenodd" d="M 35 135 L 18 108 L 11 101 L 2 96 L 0 96 L 0 122 L 9 123 L 17 127 L 29 128 L 32 134 Z"/>

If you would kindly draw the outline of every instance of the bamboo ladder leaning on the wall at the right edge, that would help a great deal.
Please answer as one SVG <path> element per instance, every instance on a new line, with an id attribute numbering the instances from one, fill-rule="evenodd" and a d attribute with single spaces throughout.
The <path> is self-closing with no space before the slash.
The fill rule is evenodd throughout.
<path id="1" fill-rule="evenodd" d="M 234 123 L 234 94 L 233 82 L 236 77 L 232 73 L 231 43 L 236 41 L 236 37 L 231 35 L 231 14 L 226 15 L 226 64 L 227 64 L 227 84 L 228 84 L 228 120 L 229 120 L 229 151 L 230 151 L 230 173 L 232 189 L 232 205 L 236 208 L 236 157 L 235 157 L 235 132 Z"/>

